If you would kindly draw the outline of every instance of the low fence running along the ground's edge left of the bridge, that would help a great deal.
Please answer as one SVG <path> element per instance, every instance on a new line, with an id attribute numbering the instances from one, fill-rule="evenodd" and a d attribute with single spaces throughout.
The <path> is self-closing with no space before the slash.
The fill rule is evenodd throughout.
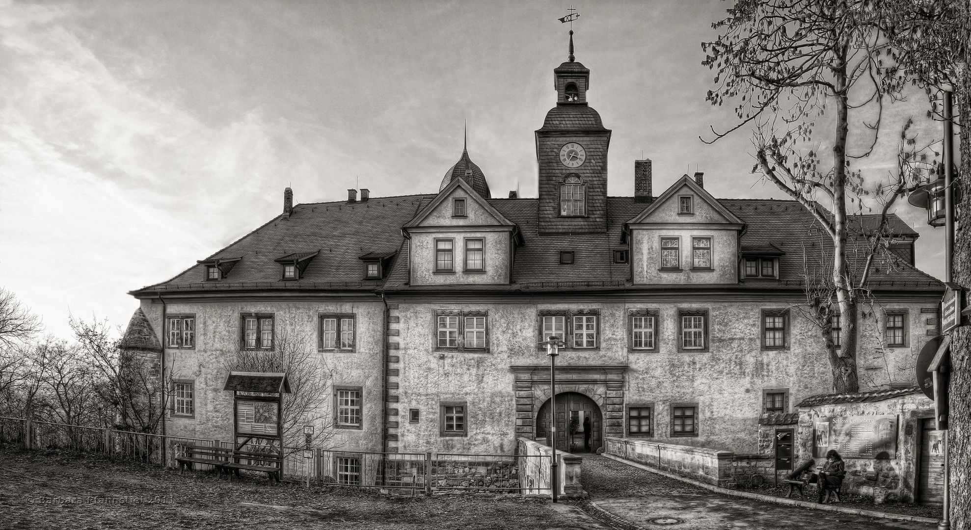
<path id="1" fill-rule="evenodd" d="M 114 459 L 168 468 L 179 468 L 179 459 L 191 456 L 196 460 L 192 462 L 192 468 L 200 470 L 216 470 L 220 464 L 228 462 L 228 455 L 237 448 L 231 442 L 219 440 L 162 436 L 7 416 L 0 416 L 0 444 L 27 449 L 99 453 Z M 200 447 L 223 449 L 222 453 L 226 456 L 218 456 L 214 451 L 198 450 Z M 284 447 L 281 465 L 284 480 L 380 488 L 406 495 L 432 494 L 436 491 L 549 492 L 549 487 L 537 488 L 531 483 L 527 486 L 522 480 L 522 471 L 537 467 L 530 464 L 545 463 L 543 458 L 539 454 L 399 453 Z M 212 460 L 212 464 L 199 460 Z"/>

